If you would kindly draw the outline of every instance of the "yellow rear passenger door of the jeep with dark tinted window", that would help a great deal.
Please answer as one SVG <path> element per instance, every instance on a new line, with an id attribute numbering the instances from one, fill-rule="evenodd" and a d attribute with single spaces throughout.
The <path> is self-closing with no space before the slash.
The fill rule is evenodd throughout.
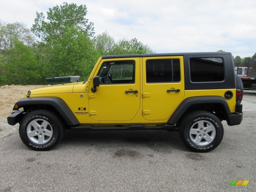
<path id="1" fill-rule="evenodd" d="M 142 66 L 143 117 L 169 119 L 184 98 L 183 57 L 144 57 Z"/>

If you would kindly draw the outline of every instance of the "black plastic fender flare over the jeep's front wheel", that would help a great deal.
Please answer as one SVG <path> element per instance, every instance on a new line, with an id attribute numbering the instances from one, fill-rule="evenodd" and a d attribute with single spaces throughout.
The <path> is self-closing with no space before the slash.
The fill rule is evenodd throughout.
<path id="1" fill-rule="evenodd" d="M 33 105 L 51 105 L 55 108 L 62 118 L 67 122 L 68 125 L 77 125 L 79 121 L 76 116 L 73 114 L 68 105 L 59 97 L 28 97 L 22 98 L 15 105 L 18 105 L 18 109 L 24 106 L 33 106 Z M 13 110 L 18 110 L 13 108 Z"/>

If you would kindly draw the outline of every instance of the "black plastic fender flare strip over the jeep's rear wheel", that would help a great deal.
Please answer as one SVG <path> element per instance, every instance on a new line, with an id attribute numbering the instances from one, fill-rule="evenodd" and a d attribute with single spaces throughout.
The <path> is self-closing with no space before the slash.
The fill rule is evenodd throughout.
<path id="1" fill-rule="evenodd" d="M 169 124 L 176 124 L 179 119 L 183 116 L 185 111 L 194 104 L 221 104 L 224 106 L 225 112 L 227 115 L 231 115 L 229 106 L 227 101 L 220 96 L 202 96 L 202 97 L 190 97 L 182 101 L 182 103 L 178 106 L 175 112 L 172 114 L 170 119 L 167 121 Z"/>

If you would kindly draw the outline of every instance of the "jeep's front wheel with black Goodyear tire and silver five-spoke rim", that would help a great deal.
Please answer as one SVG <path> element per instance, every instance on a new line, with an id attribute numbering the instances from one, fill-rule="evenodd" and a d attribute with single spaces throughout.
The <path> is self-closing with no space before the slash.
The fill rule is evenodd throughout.
<path id="1" fill-rule="evenodd" d="M 64 126 L 58 115 L 48 110 L 29 112 L 20 122 L 19 135 L 23 143 L 36 151 L 54 147 L 64 135 Z"/>

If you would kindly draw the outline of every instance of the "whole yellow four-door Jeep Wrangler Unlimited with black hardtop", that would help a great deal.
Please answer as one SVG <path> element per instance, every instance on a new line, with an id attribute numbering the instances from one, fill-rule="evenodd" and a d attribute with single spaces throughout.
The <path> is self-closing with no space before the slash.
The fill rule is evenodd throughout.
<path id="1" fill-rule="evenodd" d="M 227 52 L 103 56 L 84 82 L 29 90 L 8 123 L 38 151 L 68 128 L 175 130 L 190 150 L 208 152 L 222 140 L 222 120 L 242 121 L 238 87 Z"/>

